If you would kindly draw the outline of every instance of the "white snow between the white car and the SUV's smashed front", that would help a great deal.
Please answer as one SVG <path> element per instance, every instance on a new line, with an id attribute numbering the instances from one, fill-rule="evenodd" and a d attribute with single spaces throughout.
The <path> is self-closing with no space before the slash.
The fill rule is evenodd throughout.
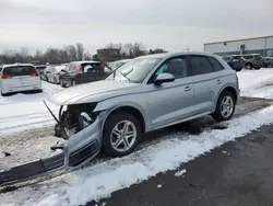
<path id="1" fill-rule="evenodd" d="M 43 103 L 62 88 L 43 81 L 43 93 L 0 96 L 0 136 L 52 125 L 54 118 Z M 58 107 L 50 105 L 55 113 Z"/>

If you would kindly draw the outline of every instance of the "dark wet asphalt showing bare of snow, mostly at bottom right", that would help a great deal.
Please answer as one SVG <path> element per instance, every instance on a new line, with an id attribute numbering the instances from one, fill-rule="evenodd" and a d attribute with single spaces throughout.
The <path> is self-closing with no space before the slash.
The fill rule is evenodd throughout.
<path id="1" fill-rule="evenodd" d="M 244 102 L 244 103 L 242 103 Z M 240 107 L 240 105 L 244 107 Z M 236 115 L 253 112 L 271 101 L 241 99 Z M 210 118 L 188 123 L 200 133 Z M 179 125 L 175 127 L 179 129 Z M 195 130 L 198 131 L 194 131 Z M 180 128 L 181 129 L 181 128 Z M 219 128 L 225 129 L 225 128 Z M 140 184 L 90 202 L 87 206 L 270 206 L 273 205 L 273 125 L 262 126 L 237 141 L 227 142 L 176 171 L 157 174 Z M 186 171 L 183 171 L 186 170 Z M 183 171 L 180 176 L 175 175 Z"/>

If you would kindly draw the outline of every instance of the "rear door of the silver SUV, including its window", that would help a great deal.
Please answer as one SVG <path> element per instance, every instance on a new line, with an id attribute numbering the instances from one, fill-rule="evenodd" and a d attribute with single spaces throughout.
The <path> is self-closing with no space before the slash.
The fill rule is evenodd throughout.
<path id="1" fill-rule="evenodd" d="M 213 112 L 215 95 L 223 80 L 206 56 L 191 55 L 189 58 L 194 87 L 193 115 Z"/>

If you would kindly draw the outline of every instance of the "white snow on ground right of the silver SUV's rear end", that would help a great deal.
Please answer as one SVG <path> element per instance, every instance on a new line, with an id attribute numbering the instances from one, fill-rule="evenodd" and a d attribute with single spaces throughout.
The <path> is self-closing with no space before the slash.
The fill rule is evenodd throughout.
<path id="1" fill-rule="evenodd" d="M 241 96 L 273 99 L 273 69 L 241 70 L 237 75 Z"/>

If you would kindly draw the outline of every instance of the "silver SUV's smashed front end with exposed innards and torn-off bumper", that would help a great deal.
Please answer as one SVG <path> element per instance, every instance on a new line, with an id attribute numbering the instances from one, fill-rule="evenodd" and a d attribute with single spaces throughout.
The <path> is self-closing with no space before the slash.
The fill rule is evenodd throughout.
<path id="1" fill-rule="evenodd" d="M 47 106 L 47 104 L 45 103 Z M 8 171 L 0 171 L 0 186 L 11 185 L 57 171 L 70 171 L 90 162 L 100 150 L 102 124 L 105 112 L 93 112 L 95 103 L 61 106 L 56 119 L 55 131 L 64 142 L 55 145 L 51 150 L 61 152 L 39 159 Z"/>

